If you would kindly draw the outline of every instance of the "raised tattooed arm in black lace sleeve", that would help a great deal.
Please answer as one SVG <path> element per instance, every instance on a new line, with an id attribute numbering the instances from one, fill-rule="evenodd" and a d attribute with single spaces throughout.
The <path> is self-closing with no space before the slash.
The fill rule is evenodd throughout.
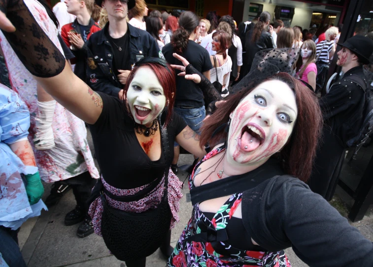
<path id="1" fill-rule="evenodd" d="M 101 97 L 72 73 L 23 0 L 0 0 L 0 29 L 26 69 L 54 99 L 87 123 L 97 121 Z"/>

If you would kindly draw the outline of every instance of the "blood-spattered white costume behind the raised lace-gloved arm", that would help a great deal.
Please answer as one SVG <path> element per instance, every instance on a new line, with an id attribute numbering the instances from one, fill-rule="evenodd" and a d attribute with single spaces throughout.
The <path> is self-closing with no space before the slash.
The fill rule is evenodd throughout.
<path id="1" fill-rule="evenodd" d="M 44 7 L 34 0 L 26 0 L 25 3 L 34 15 L 38 25 L 47 33 L 55 46 L 58 47 L 59 52 L 62 53 L 61 44 L 58 40 L 58 31 L 52 20 L 46 15 Z M 33 138 L 36 131 L 35 116 L 37 114 L 37 82 L 19 60 L 2 32 L 0 32 L 0 42 L 8 67 L 12 89 L 19 93 L 30 111 L 31 126 L 29 140 L 31 145 L 34 146 Z M 27 44 L 27 47 L 31 47 L 30 44 Z M 32 50 L 32 52 L 37 53 L 38 57 L 46 59 L 45 50 Z M 88 146 L 87 130 L 84 122 L 68 112 L 59 103 L 56 103 L 52 128 L 56 146 L 45 151 L 34 150 L 41 179 L 44 182 L 52 183 L 78 176 L 87 171 L 89 171 L 93 178 L 99 178 L 98 170 L 95 167 Z"/>

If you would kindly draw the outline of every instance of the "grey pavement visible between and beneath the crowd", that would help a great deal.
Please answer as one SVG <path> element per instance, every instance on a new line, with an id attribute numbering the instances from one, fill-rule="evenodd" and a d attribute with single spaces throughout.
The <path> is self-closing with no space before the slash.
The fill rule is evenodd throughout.
<path id="1" fill-rule="evenodd" d="M 88 141 L 90 147 L 93 148 L 89 133 Z M 180 155 L 179 166 L 192 162 L 192 155 Z M 186 173 L 179 171 L 178 178 L 180 181 L 184 181 Z M 45 185 L 43 199 L 48 196 L 50 187 L 50 184 Z M 171 246 L 176 244 L 192 212 L 187 181 L 185 181 L 182 192 L 183 198 L 180 201 L 179 211 L 180 222 L 171 231 Z M 337 194 L 343 196 L 342 191 L 337 191 Z M 342 216 L 346 217 L 348 209 L 345 203 L 351 204 L 351 201 L 343 199 L 344 201 L 341 201 L 336 196 L 331 204 L 339 210 Z M 75 204 L 72 191 L 68 191 L 57 205 L 49 211 L 43 211 L 38 218 L 28 220 L 21 227 L 19 242 L 28 267 L 125 267 L 124 262 L 118 261 L 109 254 L 102 237 L 92 234 L 85 238 L 79 238 L 76 236 L 79 224 L 69 227 L 64 225 L 65 215 L 75 207 Z M 362 221 L 351 224 L 373 241 L 373 206 Z M 286 254 L 293 267 L 307 266 L 295 255 L 291 248 L 286 250 Z M 166 259 L 160 250 L 146 259 L 146 267 L 164 267 L 165 265 Z"/>

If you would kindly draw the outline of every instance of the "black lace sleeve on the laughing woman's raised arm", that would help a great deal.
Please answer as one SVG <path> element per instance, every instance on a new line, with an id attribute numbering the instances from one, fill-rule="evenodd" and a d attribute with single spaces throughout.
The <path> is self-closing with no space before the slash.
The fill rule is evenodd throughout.
<path id="1" fill-rule="evenodd" d="M 2 32 L 26 69 L 38 77 L 60 74 L 65 68 L 65 57 L 41 29 L 25 2 L 0 0 L 0 10 L 16 28 L 13 33 Z"/>

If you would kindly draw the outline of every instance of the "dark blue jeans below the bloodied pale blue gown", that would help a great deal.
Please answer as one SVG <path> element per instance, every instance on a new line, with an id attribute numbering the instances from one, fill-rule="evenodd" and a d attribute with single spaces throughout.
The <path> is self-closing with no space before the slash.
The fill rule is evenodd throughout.
<path id="1" fill-rule="evenodd" d="M 9 267 L 27 267 L 19 250 L 17 230 L 0 226 L 0 240 L 0 263 L 3 260 Z"/>

